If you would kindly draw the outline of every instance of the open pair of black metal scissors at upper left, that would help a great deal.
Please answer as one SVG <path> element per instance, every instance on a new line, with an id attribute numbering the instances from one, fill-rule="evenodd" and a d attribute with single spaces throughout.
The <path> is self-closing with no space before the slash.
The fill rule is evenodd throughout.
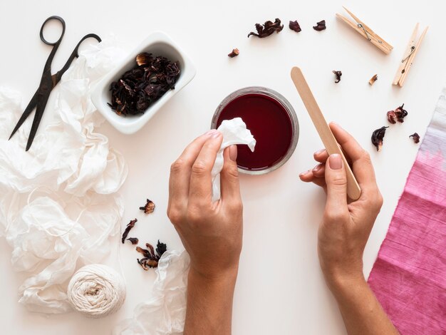
<path id="1" fill-rule="evenodd" d="M 62 24 L 61 37 L 59 37 L 56 42 L 48 42 L 43 37 L 43 27 L 48 23 L 48 21 L 51 20 L 60 21 Z M 66 61 L 63 68 L 61 68 L 61 70 L 58 71 L 57 73 L 51 75 L 51 63 L 53 61 L 54 55 L 56 54 L 59 45 L 61 44 L 64 33 L 65 33 L 65 21 L 63 21 L 63 19 L 60 16 L 50 16 L 42 24 L 40 31 L 41 41 L 45 44 L 48 44 L 48 46 L 53 46 L 53 50 L 51 50 L 51 53 L 48 56 L 48 59 L 46 60 L 45 67 L 43 68 L 41 83 L 38 86 L 36 93 L 34 93 L 33 98 L 31 98 L 31 101 L 25 108 L 25 111 L 21 115 L 21 118 L 19 119 L 16 128 L 14 128 L 14 130 L 11 133 L 11 136 L 9 136 L 9 140 L 11 140 L 12 136 L 16 133 L 17 130 L 19 130 L 21 125 L 25 122 L 26 118 L 28 118 L 28 116 L 31 114 L 34 108 L 36 108 L 36 114 L 34 115 L 33 125 L 31 125 L 31 131 L 29 133 L 28 143 L 26 144 L 26 151 L 28 151 L 29 148 L 31 148 L 31 144 L 33 144 L 33 140 L 34 137 L 36 136 L 38 125 L 41 122 L 43 111 L 45 110 L 46 103 L 48 102 L 48 98 L 51 94 L 51 91 L 57 85 L 57 83 L 61 81 L 63 73 L 65 73 L 71 66 L 71 63 L 73 62 L 74 58 L 77 58 L 79 56 L 78 48 L 81 45 L 81 43 L 85 39 L 90 37 L 95 38 L 98 42 L 101 41 L 100 37 L 95 33 L 88 33 L 87 35 L 83 36 L 83 38 L 81 38 L 81 41 L 79 41 L 79 43 L 76 45 L 76 48 L 74 48 L 73 52 L 71 53 L 70 57 L 68 58 L 68 61 Z"/>

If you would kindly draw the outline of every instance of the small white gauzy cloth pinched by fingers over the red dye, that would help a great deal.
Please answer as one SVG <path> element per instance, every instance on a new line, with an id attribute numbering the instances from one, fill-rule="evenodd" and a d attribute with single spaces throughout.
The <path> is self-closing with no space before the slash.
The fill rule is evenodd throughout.
<path id="1" fill-rule="evenodd" d="M 249 149 L 254 152 L 256 140 L 251 135 L 251 131 L 247 129 L 247 125 L 241 118 L 233 118 L 232 120 L 224 120 L 217 128 L 223 134 L 223 142 L 217 153 L 214 166 L 212 167 L 212 201 L 220 198 L 220 172 L 223 168 L 223 151 L 229 145 L 246 144 Z"/>

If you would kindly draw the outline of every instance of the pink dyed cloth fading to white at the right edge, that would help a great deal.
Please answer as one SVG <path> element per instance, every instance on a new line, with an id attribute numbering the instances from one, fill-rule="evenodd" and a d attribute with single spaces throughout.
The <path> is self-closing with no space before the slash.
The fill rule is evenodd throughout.
<path id="1" fill-rule="evenodd" d="M 401 334 L 446 334 L 446 88 L 368 283 Z"/>

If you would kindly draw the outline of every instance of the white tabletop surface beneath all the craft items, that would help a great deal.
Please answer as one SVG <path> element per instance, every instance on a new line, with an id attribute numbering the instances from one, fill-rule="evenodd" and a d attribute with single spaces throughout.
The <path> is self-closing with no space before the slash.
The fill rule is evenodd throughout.
<path id="1" fill-rule="evenodd" d="M 394 46 L 385 56 L 335 17 L 342 5 Z M 443 1 L 1 1 L 0 85 L 23 93 L 23 105 L 38 86 L 48 46 L 38 38 L 43 21 L 51 15 L 66 20 L 66 35 L 53 69 L 66 61 L 85 33 L 115 33 L 130 50 L 148 33 L 168 33 L 187 51 L 197 76 L 135 135 L 122 135 L 110 125 L 100 129 L 110 145 L 120 150 L 130 173 L 120 190 L 126 204 L 123 225 L 141 218 L 135 235 L 171 249 L 181 248 L 168 221 L 169 167 L 182 148 L 209 128 L 215 108 L 228 93 L 244 86 L 266 86 L 282 93 L 294 106 L 300 138 L 288 163 L 269 175 L 242 175 L 244 248 L 234 297 L 233 334 L 344 334 L 336 303 L 325 286 L 316 254 L 316 234 L 325 195 L 299 181 L 299 172 L 313 168 L 312 154 L 321 148 L 316 130 L 289 78 L 299 65 L 307 76 L 328 120 L 336 120 L 370 151 L 385 202 L 364 254 L 369 274 L 418 145 L 446 79 L 446 29 Z M 348 15 L 348 14 L 346 14 Z M 247 38 L 256 22 L 279 17 L 286 27 L 269 38 Z M 287 27 L 297 19 L 303 31 Z M 326 31 L 313 31 L 325 19 Z M 415 23 L 430 26 L 404 88 L 391 86 Z M 48 34 L 51 31 L 48 31 Z M 240 56 L 229 59 L 232 48 Z M 332 70 L 343 72 L 333 83 Z M 55 72 L 53 71 L 53 72 Z M 368 85 L 378 73 L 374 86 Z M 405 103 L 405 123 L 393 125 L 385 135 L 383 151 L 370 143 L 373 130 L 388 125 L 385 112 Z M 138 206 L 145 197 L 157 209 L 143 218 Z M 121 319 L 130 317 L 150 297 L 155 273 L 143 272 L 132 247 L 122 247 L 121 261 L 128 282 L 123 308 L 105 319 L 85 319 L 71 313 L 42 316 L 17 303 L 24 278 L 11 269 L 11 249 L 0 240 L 1 334 L 110 334 Z M 222 255 L 224 257 L 224 255 Z"/>

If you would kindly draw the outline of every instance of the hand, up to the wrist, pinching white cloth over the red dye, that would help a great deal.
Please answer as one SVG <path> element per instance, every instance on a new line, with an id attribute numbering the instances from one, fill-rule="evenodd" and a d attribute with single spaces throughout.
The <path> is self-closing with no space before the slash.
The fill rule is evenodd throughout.
<path id="1" fill-rule="evenodd" d="M 211 170 L 222 140 L 217 130 L 195 139 L 172 164 L 169 181 L 167 216 L 190 254 L 191 270 L 211 280 L 234 273 L 237 277 L 242 250 L 235 145 L 224 150 L 221 199 L 212 202 Z"/>

